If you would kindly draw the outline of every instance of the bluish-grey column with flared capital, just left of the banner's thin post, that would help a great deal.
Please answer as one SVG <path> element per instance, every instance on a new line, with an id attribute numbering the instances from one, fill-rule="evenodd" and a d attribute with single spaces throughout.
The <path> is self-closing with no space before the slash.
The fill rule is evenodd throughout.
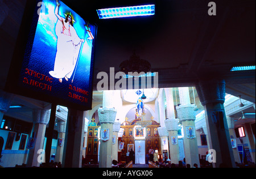
<path id="1" fill-rule="evenodd" d="M 43 144 L 50 112 L 51 110 L 33 109 L 32 116 L 35 124 L 31 137 L 35 138 L 35 147 L 29 150 L 27 167 L 39 167 L 41 163 L 46 161 Z"/>

